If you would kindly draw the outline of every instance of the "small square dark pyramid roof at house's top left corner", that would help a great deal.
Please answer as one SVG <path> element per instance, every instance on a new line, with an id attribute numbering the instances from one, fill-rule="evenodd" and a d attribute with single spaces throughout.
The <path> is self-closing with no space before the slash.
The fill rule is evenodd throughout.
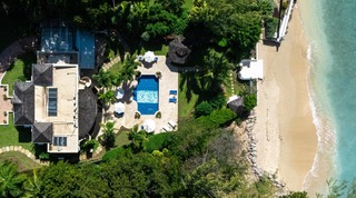
<path id="1" fill-rule="evenodd" d="M 51 86 L 53 83 L 52 65 L 32 65 L 32 80 L 36 86 Z"/>

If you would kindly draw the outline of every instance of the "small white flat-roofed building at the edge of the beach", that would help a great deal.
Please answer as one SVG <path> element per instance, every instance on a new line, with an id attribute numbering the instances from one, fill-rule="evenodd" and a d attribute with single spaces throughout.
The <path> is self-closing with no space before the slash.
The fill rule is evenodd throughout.
<path id="1" fill-rule="evenodd" d="M 241 80 L 264 79 L 264 61 L 256 59 L 244 59 L 239 63 L 238 73 Z"/>

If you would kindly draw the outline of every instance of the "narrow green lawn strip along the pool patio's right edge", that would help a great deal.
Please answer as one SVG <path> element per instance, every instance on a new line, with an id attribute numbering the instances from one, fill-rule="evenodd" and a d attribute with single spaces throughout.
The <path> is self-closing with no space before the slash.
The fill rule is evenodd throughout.
<path id="1" fill-rule="evenodd" d="M 179 73 L 178 117 L 190 117 L 199 100 L 199 90 L 194 73 Z"/>

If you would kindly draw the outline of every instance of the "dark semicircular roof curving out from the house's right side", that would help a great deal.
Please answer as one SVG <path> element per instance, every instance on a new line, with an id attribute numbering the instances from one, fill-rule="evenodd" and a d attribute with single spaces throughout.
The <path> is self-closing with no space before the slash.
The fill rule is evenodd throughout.
<path id="1" fill-rule="evenodd" d="M 89 135 L 97 117 L 97 96 L 91 88 L 79 90 L 79 139 Z"/>

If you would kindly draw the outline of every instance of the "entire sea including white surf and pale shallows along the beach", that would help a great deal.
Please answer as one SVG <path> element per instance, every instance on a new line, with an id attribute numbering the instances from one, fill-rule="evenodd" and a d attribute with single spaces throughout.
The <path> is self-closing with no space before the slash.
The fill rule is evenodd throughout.
<path id="1" fill-rule="evenodd" d="M 356 179 L 356 1 L 298 0 L 309 49 L 309 96 L 318 148 L 307 191 Z"/>

